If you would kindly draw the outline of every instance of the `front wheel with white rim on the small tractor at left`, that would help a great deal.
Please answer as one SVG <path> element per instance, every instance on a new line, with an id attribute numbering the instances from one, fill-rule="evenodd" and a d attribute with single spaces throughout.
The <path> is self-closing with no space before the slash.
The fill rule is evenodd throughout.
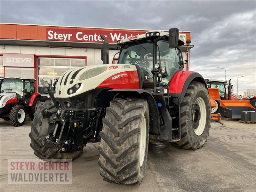
<path id="1" fill-rule="evenodd" d="M 15 105 L 10 112 L 10 122 L 13 126 L 19 127 L 24 124 L 26 120 L 26 111 L 22 105 Z"/>

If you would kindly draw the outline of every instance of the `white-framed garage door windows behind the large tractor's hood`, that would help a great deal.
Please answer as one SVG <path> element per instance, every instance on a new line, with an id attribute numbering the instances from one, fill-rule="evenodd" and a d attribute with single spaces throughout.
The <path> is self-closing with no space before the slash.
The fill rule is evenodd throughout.
<path id="1" fill-rule="evenodd" d="M 84 67 L 86 64 L 86 59 L 38 57 L 37 63 L 38 92 L 45 96 L 47 95 L 46 89 L 44 89 L 40 83 L 40 77 L 47 78 L 49 83 L 50 80 L 54 82 L 54 79 L 60 78 L 60 76 L 67 70 Z"/>

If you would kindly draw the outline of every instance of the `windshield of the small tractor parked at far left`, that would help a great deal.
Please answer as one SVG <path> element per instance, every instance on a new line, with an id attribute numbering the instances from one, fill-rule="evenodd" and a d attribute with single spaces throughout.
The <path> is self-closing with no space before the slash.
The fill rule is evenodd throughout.
<path id="1" fill-rule="evenodd" d="M 21 79 L 6 78 L 2 80 L 0 92 L 22 92 L 21 88 L 23 88 L 23 82 Z"/>

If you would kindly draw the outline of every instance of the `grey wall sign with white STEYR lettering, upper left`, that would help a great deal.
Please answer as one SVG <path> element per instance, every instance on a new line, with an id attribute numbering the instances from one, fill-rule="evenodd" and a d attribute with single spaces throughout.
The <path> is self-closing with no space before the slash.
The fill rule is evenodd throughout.
<path id="1" fill-rule="evenodd" d="M 34 54 L 3 54 L 4 67 L 34 67 Z"/>

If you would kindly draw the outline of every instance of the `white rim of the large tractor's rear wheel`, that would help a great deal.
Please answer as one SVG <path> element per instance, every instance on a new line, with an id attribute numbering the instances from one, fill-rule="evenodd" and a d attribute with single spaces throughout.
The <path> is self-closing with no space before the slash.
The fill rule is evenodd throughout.
<path id="1" fill-rule="evenodd" d="M 205 102 L 203 100 L 203 98 L 201 97 L 198 97 L 194 103 L 194 106 L 195 105 L 198 105 L 198 107 L 200 108 L 200 119 L 198 120 L 198 126 L 197 127 L 194 127 L 193 126 L 193 129 L 194 129 L 194 132 L 196 133 L 196 135 L 201 135 L 203 132 L 204 132 L 204 128 L 205 128 L 205 125 L 206 125 L 206 115 L 207 115 L 207 112 L 206 112 L 206 106 L 205 106 Z M 194 106 L 193 106 L 193 110 L 194 110 Z M 193 121 L 195 121 L 195 115 L 196 115 L 196 111 L 194 110 L 193 111 Z"/>

